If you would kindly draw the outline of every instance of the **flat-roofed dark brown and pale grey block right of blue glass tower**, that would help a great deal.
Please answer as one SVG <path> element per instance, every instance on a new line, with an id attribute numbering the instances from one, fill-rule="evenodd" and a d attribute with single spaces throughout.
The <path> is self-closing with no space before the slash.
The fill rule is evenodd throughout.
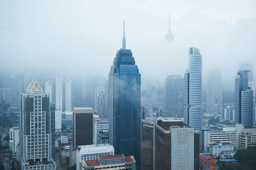
<path id="1" fill-rule="evenodd" d="M 179 117 L 141 122 L 141 169 L 199 169 L 199 131 Z"/>

